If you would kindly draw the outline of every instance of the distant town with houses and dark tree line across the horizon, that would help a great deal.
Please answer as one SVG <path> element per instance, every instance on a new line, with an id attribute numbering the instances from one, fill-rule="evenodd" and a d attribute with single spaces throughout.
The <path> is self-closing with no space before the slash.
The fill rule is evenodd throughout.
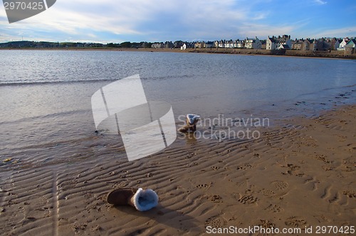
<path id="1" fill-rule="evenodd" d="M 197 50 L 199 49 L 215 49 L 219 48 L 234 49 L 236 53 L 246 53 L 246 50 L 253 49 L 256 53 L 253 54 L 276 54 L 276 55 L 288 55 L 287 51 L 304 51 L 314 52 L 316 51 L 339 51 L 339 53 L 332 53 L 335 57 L 339 55 L 352 55 L 355 56 L 355 38 L 295 38 L 292 39 L 288 35 L 283 36 L 268 36 L 266 40 L 260 40 L 257 37 L 244 38 L 243 40 L 220 40 L 220 41 L 166 41 L 166 42 L 123 42 L 123 43 L 73 43 L 73 42 L 36 42 L 36 41 L 11 41 L 8 43 L 0 43 L 0 48 L 167 48 L 167 49 L 179 49 L 179 50 Z M 239 51 L 239 49 L 241 49 Z M 263 50 L 267 50 L 270 53 L 263 53 Z M 205 50 L 206 51 L 206 50 Z M 231 50 L 230 50 L 231 51 Z M 207 51 L 206 51 L 207 52 Z M 220 50 L 221 52 L 221 50 Z M 278 53 L 279 52 L 279 53 Z M 283 52 L 283 53 L 282 53 Z M 249 54 L 249 53 L 248 53 Z M 292 55 L 293 53 L 289 53 Z M 304 53 L 309 55 L 308 53 Z M 320 53 L 319 53 L 320 54 Z M 325 54 L 325 53 L 324 53 Z M 311 54 L 310 54 L 311 55 Z"/>

